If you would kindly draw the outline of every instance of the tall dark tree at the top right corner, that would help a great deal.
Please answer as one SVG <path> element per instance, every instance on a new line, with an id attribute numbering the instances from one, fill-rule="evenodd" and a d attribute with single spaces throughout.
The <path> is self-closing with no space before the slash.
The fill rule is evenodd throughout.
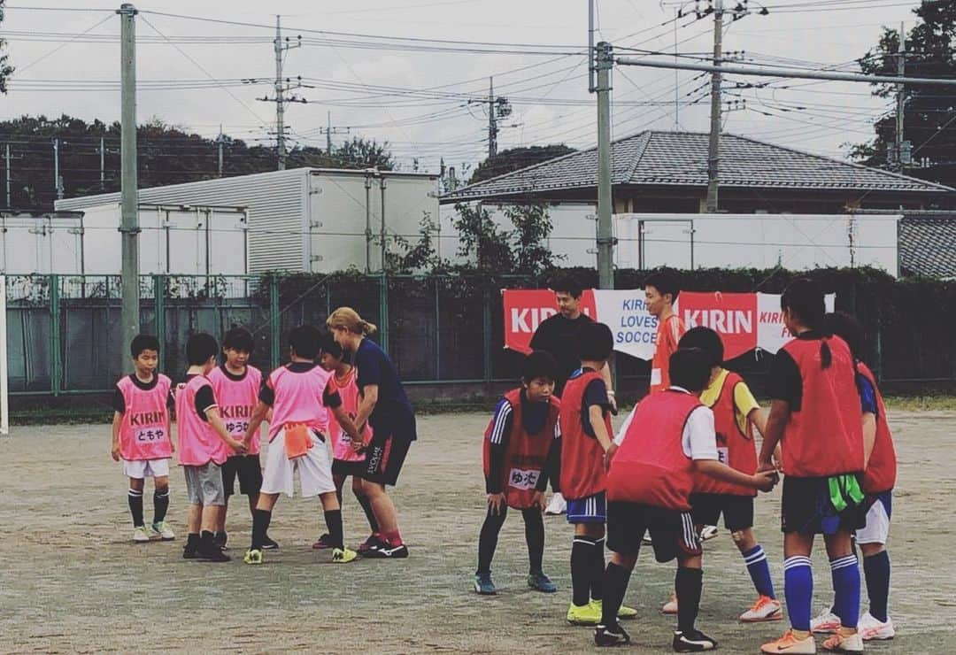
<path id="1" fill-rule="evenodd" d="M 914 77 L 956 77 L 956 3 L 923 2 L 913 10 L 920 22 L 906 34 L 905 71 Z M 897 75 L 896 30 L 884 28 L 877 46 L 859 59 L 864 73 Z M 874 95 L 891 98 L 896 85 L 876 84 Z M 912 143 L 913 164 L 905 172 L 925 180 L 956 185 L 956 93 L 952 87 L 906 86 L 903 137 Z M 850 156 L 860 163 L 890 164 L 896 140 L 896 110 L 877 120 L 876 137 L 855 145 Z"/>

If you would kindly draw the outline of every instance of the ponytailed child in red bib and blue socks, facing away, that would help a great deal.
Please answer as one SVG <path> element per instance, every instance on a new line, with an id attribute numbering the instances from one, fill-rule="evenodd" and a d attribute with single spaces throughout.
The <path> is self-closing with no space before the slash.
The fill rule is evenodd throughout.
<path id="1" fill-rule="evenodd" d="M 760 470 L 773 469 L 779 443 L 786 475 L 781 498 L 784 589 L 792 629 L 762 646 L 766 653 L 815 652 L 811 634 L 813 570 L 810 553 L 822 534 L 830 557 L 840 619 L 829 650 L 861 652 L 858 632 L 859 566 L 852 536 L 866 522 L 859 475 L 864 448 L 857 371 L 846 341 L 824 320 L 823 292 L 809 279 L 793 281 L 780 296 L 784 324 L 793 335 L 773 358 L 771 415 L 760 450 Z"/>

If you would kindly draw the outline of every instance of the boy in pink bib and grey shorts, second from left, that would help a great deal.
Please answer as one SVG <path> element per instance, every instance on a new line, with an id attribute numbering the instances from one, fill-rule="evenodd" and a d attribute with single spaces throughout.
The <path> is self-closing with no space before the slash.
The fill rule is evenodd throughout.
<path id="1" fill-rule="evenodd" d="M 222 466 L 230 452 L 246 452 L 247 446 L 229 434 L 206 377 L 216 366 L 218 352 L 219 344 L 212 335 L 195 334 L 186 342 L 189 368 L 185 382 L 176 389 L 176 428 L 189 497 L 189 534 L 183 557 L 222 562 L 229 557 L 214 540 L 219 513 L 226 505 Z"/>

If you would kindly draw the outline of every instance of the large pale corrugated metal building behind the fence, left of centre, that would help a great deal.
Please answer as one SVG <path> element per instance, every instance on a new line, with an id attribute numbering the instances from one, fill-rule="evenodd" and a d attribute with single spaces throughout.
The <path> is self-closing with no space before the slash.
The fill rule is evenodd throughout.
<path id="1" fill-rule="evenodd" d="M 119 193 L 107 193 L 59 200 L 55 207 L 103 211 L 119 226 L 119 203 Z M 293 168 L 144 188 L 140 203 L 245 207 L 249 260 L 244 273 L 331 273 L 350 267 L 375 272 L 381 269 L 383 234 L 391 248 L 396 237 L 414 241 L 424 218 L 437 220 L 438 176 Z M 230 249 L 219 248 L 215 241 L 208 263 L 219 272 L 224 266 L 220 257 L 228 257 Z"/>

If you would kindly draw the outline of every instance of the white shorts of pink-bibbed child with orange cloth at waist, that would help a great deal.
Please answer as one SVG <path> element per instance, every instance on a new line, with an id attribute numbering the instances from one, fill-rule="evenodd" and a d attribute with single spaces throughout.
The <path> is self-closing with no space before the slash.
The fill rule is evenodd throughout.
<path id="1" fill-rule="evenodd" d="M 302 496 L 308 498 L 319 493 L 336 491 L 332 479 L 332 449 L 328 440 L 319 439 L 312 433 L 313 447 L 295 459 L 286 457 L 286 432 L 280 430 L 269 443 L 266 452 L 266 470 L 262 474 L 260 493 L 293 493 L 293 474 L 299 473 Z"/>

